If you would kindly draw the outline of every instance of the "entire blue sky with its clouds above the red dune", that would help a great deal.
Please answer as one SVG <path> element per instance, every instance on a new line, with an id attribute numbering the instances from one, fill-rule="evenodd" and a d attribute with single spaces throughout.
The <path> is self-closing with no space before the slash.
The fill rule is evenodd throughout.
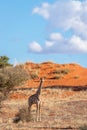
<path id="1" fill-rule="evenodd" d="M 0 55 L 87 67 L 87 0 L 0 0 Z"/>

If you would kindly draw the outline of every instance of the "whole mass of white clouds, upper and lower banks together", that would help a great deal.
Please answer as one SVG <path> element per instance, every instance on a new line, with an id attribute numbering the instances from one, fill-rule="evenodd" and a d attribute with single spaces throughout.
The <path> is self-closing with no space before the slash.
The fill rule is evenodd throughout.
<path id="1" fill-rule="evenodd" d="M 48 40 L 45 40 L 43 49 L 40 44 L 36 44 L 35 47 L 32 43 L 31 51 L 40 53 L 87 53 L 86 0 L 82 2 L 79 0 L 58 0 L 53 4 L 43 3 L 41 7 L 35 7 L 33 13 L 48 20 L 53 33 L 49 34 Z M 58 30 L 56 33 L 55 29 Z M 67 34 L 70 30 L 73 32 L 72 35 Z"/>

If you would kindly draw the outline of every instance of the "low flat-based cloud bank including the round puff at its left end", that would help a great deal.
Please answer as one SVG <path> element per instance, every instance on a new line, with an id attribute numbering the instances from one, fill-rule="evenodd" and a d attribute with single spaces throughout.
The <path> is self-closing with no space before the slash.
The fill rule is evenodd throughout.
<path id="1" fill-rule="evenodd" d="M 55 33 L 54 33 L 55 34 Z M 42 49 L 39 43 L 32 42 L 29 45 L 30 52 L 34 53 L 87 53 L 87 40 L 83 40 L 80 37 L 73 35 L 69 39 L 64 39 L 61 36 L 61 39 L 50 35 L 49 40 L 45 41 L 45 45 Z M 57 36 L 57 33 L 56 33 Z"/>

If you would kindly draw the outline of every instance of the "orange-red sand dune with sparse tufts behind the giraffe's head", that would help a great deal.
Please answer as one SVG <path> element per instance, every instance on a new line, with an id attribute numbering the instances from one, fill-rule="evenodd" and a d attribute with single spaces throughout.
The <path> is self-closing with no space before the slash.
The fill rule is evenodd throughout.
<path id="1" fill-rule="evenodd" d="M 87 68 L 78 64 L 56 64 L 53 62 L 36 64 L 26 62 L 25 68 L 30 75 L 36 76 L 28 80 L 25 87 L 37 87 L 40 77 L 45 77 L 44 87 L 87 86 Z"/>

